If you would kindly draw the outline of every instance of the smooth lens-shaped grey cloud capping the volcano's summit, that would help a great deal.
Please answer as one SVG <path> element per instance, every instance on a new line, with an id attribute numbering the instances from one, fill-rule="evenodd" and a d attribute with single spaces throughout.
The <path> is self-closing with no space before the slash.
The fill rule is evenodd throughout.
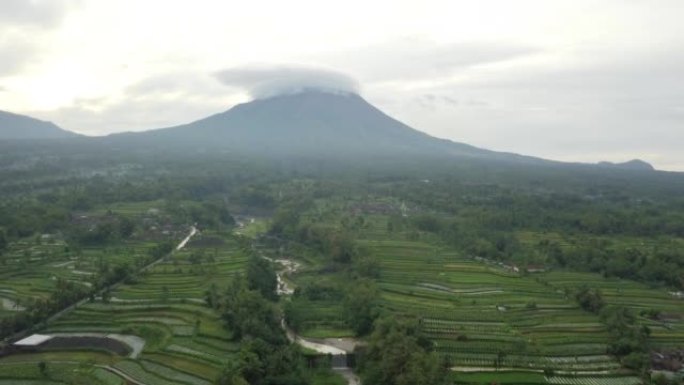
<path id="1" fill-rule="evenodd" d="M 329 69 L 305 66 L 250 66 L 216 73 L 223 84 L 246 90 L 253 98 L 319 89 L 358 93 L 359 84 L 350 76 Z"/>

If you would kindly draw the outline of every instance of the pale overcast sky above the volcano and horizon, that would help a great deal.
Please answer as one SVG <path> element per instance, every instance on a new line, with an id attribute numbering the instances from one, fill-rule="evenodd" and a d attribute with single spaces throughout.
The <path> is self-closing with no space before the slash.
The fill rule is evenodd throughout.
<path id="1" fill-rule="evenodd" d="M 299 83 L 432 135 L 684 171 L 684 1 L 0 1 L 0 110 L 88 135 Z"/>

